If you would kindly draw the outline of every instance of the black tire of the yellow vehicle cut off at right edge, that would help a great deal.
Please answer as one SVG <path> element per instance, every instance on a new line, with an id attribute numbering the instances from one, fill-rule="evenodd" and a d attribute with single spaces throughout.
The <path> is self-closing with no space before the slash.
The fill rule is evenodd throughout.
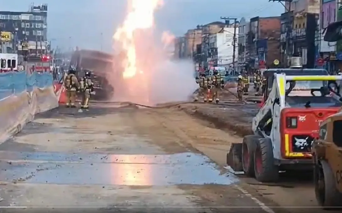
<path id="1" fill-rule="evenodd" d="M 320 161 L 314 168 L 315 194 L 318 204 L 324 210 L 334 210 L 342 207 L 342 194 L 336 187 L 336 180 L 330 165 L 326 161 Z M 324 188 L 319 187 L 319 181 L 323 181 Z"/>

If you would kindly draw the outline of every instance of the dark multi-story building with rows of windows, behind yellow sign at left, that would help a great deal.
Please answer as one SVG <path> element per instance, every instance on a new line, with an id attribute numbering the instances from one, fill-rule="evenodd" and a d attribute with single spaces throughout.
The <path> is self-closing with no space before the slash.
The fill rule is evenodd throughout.
<path id="1" fill-rule="evenodd" d="M 31 54 L 44 52 L 48 47 L 47 12 L 47 4 L 32 5 L 28 12 L 0 11 L 0 31 L 9 35 L 3 37 L 2 46 L 9 51 L 20 51 L 21 42 L 27 40 Z"/>

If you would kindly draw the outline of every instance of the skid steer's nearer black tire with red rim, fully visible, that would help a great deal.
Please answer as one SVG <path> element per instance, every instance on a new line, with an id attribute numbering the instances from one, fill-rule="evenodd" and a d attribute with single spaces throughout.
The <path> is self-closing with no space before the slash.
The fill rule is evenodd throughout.
<path id="1" fill-rule="evenodd" d="M 277 182 L 279 167 L 274 165 L 272 141 L 261 138 L 257 141 L 254 151 L 254 173 L 259 182 Z"/>

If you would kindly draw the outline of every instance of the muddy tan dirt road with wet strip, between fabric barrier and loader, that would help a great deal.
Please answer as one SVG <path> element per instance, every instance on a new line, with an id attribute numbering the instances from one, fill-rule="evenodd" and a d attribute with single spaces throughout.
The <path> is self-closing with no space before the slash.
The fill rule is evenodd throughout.
<path id="1" fill-rule="evenodd" d="M 284 212 L 219 166 L 236 140 L 179 109 L 55 109 L 0 144 L 0 205 Z"/>

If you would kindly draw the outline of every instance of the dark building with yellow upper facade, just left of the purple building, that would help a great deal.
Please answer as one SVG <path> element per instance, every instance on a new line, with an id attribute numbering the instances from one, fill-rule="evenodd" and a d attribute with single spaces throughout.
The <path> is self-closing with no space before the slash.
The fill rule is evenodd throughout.
<path id="1" fill-rule="evenodd" d="M 288 54 L 286 53 L 286 34 L 282 32 L 281 35 L 281 51 L 282 60 L 287 60 L 286 57 L 295 55 L 302 56 L 304 67 L 311 68 L 314 66 L 319 46 L 324 46 L 323 49 L 328 46 L 325 43 L 318 42 L 323 40 L 320 29 L 317 28 L 318 14 L 323 9 L 326 16 L 335 16 L 335 7 L 322 8 L 321 3 L 327 2 L 326 0 L 292 0 L 286 2 L 285 13 L 282 14 L 282 31 L 284 27 L 291 26 L 291 29 L 286 29 L 289 32 L 287 37 L 288 42 Z M 288 12 L 290 10 L 290 12 Z M 329 13 L 329 15 L 328 15 Z M 285 23 L 290 23 L 286 25 Z M 321 26 L 322 27 L 322 26 Z M 292 32 L 291 32 L 292 31 Z M 318 35 L 317 35 L 318 33 Z"/>

